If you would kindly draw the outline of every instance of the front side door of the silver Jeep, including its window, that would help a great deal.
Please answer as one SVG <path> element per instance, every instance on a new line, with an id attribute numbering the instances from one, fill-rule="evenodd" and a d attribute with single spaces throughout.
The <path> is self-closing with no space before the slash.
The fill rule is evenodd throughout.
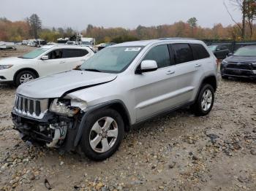
<path id="1" fill-rule="evenodd" d="M 152 47 L 143 60 L 157 61 L 157 71 L 135 74 L 135 110 L 137 121 L 146 119 L 159 112 L 170 109 L 176 81 L 173 80 L 175 68 L 170 58 L 167 44 Z M 138 66 L 140 67 L 140 66 Z"/>

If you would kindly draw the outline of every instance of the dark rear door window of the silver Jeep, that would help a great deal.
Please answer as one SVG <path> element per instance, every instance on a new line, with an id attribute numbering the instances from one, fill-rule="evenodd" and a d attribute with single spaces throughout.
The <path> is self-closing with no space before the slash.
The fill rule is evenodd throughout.
<path id="1" fill-rule="evenodd" d="M 189 61 L 193 61 L 193 53 L 189 44 L 171 44 L 173 50 L 175 52 L 175 61 L 176 63 L 186 63 Z"/>

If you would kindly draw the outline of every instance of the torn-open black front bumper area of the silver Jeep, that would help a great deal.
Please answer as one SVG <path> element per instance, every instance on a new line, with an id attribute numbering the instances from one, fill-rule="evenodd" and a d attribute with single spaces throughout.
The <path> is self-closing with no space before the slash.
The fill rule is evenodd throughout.
<path id="1" fill-rule="evenodd" d="M 67 117 L 53 112 L 45 113 L 42 119 L 24 116 L 12 110 L 14 129 L 18 130 L 23 141 L 47 147 L 61 148 L 67 151 L 75 149 L 75 136 L 79 125 L 79 116 Z"/>

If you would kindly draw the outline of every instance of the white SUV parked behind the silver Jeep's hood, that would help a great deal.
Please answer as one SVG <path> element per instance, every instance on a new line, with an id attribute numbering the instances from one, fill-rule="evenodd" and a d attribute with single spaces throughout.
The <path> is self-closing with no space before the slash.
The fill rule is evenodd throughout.
<path id="1" fill-rule="evenodd" d="M 46 45 L 26 55 L 0 60 L 0 82 L 20 85 L 37 77 L 69 71 L 94 55 L 89 47 Z"/>

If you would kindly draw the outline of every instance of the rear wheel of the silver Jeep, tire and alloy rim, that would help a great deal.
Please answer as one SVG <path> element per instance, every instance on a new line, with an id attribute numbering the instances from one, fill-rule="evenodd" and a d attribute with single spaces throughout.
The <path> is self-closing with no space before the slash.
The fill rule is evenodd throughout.
<path id="1" fill-rule="evenodd" d="M 205 96 L 209 93 L 210 97 L 206 98 L 205 102 L 206 104 L 203 105 L 203 99 Z M 209 101 L 209 102 L 206 102 Z M 210 102 L 211 101 L 211 102 Z M 199 94 L 197 95 L 197 99 L 195 101 L 195 104 L 192 105 L 192 111 L 197 116 L 205 116 L 209 112 L 211 112 L 212 107 L 214 106 L 214 88 L 211 85 L 204 84 Z"/>

